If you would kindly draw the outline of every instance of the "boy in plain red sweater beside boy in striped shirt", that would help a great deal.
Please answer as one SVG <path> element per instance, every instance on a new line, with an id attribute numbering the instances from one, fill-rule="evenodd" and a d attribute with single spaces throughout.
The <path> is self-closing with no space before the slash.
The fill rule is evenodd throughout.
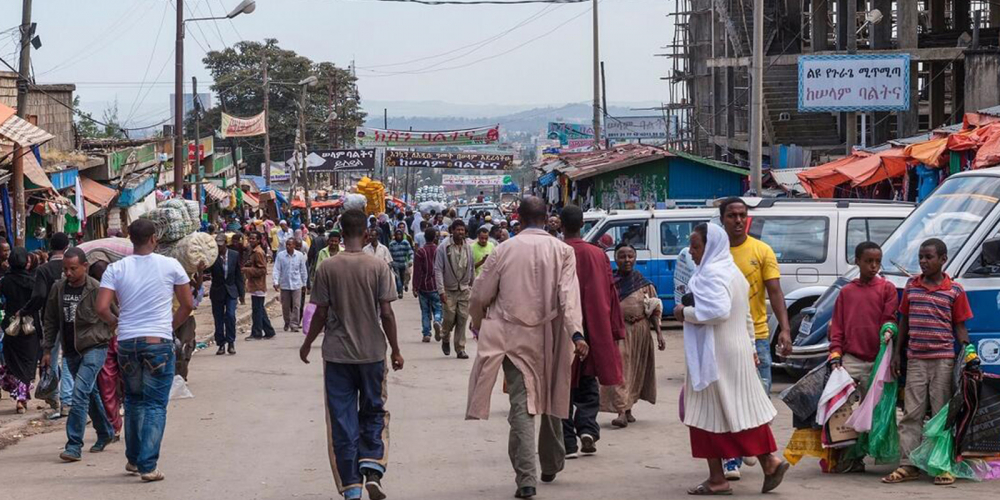
<path id="1" fill-rule="evenodd" d="M 896 322 L 899 299 L 896 287 L 878 275 L 882 269 L 882 248 L 865 241 L 854 249 L 858 277 L 844 286 L 833 307 L 830 323 L 830 366 L 843 366 L 858 381 L 864 394 L 880 348 L 879 331 L 885 323 Z M 864 472 L 861 459 L 837 462 L 836 472 Z"/>

